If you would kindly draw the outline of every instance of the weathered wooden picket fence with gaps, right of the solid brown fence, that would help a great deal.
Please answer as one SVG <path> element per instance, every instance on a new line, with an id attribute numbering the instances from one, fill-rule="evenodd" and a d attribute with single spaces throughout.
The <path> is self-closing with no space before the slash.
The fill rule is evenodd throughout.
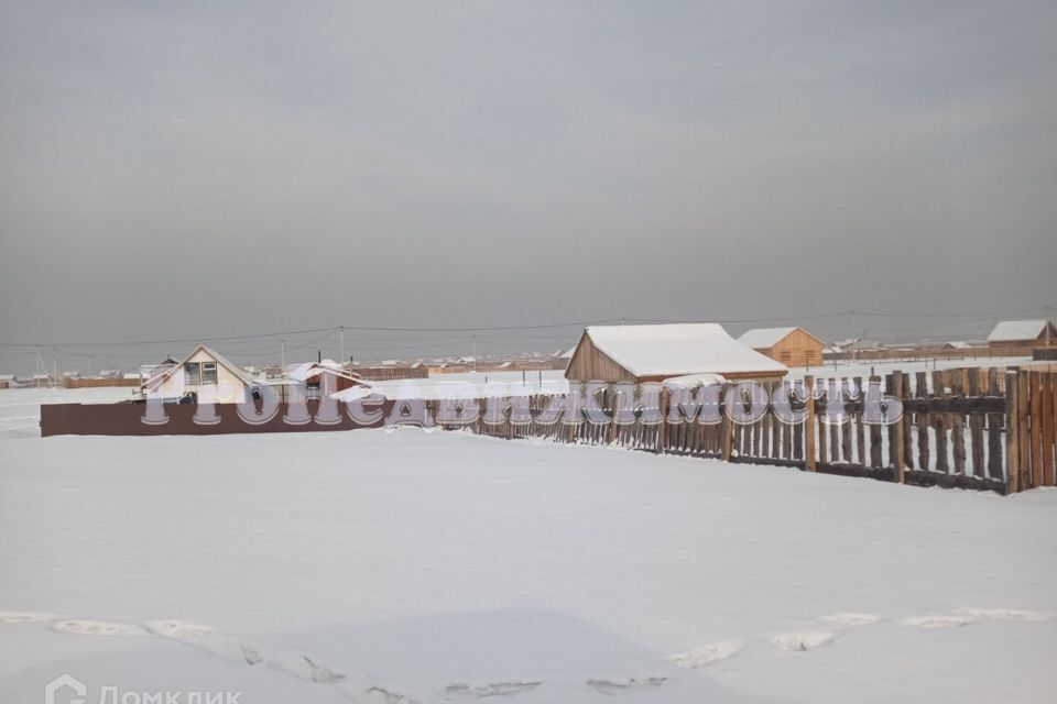
<path id="1" fill-rule="evenodd" d="M 871 419 L 864 403 L 870 384 L 876 399 L 902 404 L 896 422 Z M 1049 370 L 961 369 L 884 377 L 805 377 L 803 383 L 761 384 L 769 398 L 791 392 L 782 419 L 769 405 L 752 422 L 734 422 L 727 404 L 751 405 L 728 386 L 719 413 L 685 418 L 672 413 L 672 393 L 653 395 L 656 408 L 640 406 L 624 422 L 613 420 L 617 389 L 599 389 L 606 418 L 563 414 L 541 422 L 554 396 L 528 399 L 532 420 L 504 414 L 498 421 L 442 424 L 502 438 L 545 438 L 558 442 L 617 444 L 655 453 L 716 458 L 729 462 L 775 464 L 849 476 L 914 484 L 990 490 L 1002 494 L 1055 484 L 1057 372 Z M 744 394 L 744 389 L 742 389 Z M 642 402 L 641 387 L 635 399 Z M 432 402 L 436 403 L 436 402 Z M 883 406 L 893 406 L 882 402 Z M 649 413 L 653 410 L 654 413 Z M 678 421 L 673 422 L 673 418 Z M 644 420 L 645 419 L 645 420 Z"/>

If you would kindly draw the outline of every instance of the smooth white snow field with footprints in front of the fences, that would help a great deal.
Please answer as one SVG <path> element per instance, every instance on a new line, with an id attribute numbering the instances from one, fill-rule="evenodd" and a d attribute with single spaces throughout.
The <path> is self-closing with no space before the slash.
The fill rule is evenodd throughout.
<path id="1" fill-rule="evenodd" d="M 0 701 L 1048 702 L 1055 532 L 1054 491 L 454 432 L 8 437 Z"/>

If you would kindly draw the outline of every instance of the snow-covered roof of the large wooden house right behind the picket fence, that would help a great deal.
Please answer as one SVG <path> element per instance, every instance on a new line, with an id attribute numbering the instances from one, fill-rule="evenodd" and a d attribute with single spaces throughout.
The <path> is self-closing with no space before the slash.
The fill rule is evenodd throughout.
<path id="1" fill-rule="evenodd" d="M 585 333 L 599 351 L 634 376 L 788 371 L 781 362 L 741 344 L 715 322 L 601 326 Z"/>

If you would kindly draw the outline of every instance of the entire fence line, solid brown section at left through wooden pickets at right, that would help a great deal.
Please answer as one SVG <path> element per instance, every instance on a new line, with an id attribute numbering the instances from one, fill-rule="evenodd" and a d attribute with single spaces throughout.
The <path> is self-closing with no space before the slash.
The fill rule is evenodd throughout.
<path id="1" fill-rule="evenodd" d="M 896 403 L 897 402 L 897 403 Z M 326 406 L 326 408 L 324 408 Z M 1057 365 L 696 389 L 574 385 L 567 394 L 361 398 L 307 406 L 41 407 L 41 435 L 215 435 L 439 425 L 498 438 L 619 446 L 920 486 L 1015 493 L 1055 485 Z"/>

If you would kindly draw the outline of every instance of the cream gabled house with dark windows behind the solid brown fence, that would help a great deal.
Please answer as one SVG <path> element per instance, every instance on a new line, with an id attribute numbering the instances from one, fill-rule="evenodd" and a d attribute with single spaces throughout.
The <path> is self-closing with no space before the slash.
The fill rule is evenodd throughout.
<path id="1" fill-rule="evenodd" d="M 140 387 L 149 398 L 179 398 L 194 394 L 200 400 L 240 404 L 253 377 L 216 350 L 204 344 L 182 362 L 168 358 L 152 370 Z"/>

